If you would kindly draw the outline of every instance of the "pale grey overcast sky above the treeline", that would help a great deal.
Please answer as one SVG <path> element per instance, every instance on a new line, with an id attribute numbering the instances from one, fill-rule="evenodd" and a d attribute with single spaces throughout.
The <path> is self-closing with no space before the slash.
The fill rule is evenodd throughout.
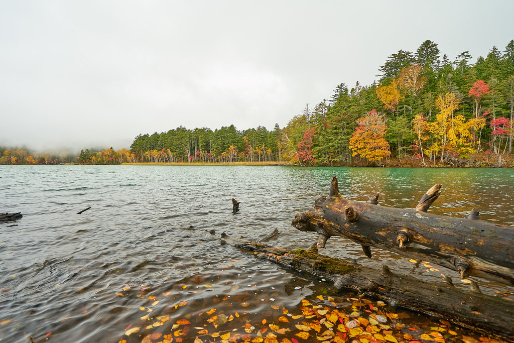
<path id="1" fill-rule="evenodd" d="M 0 0 L 0 146 L 128 148 L 179 125 L 284 127 L 425 40 L 472 61 L 514 1 Z"/>

